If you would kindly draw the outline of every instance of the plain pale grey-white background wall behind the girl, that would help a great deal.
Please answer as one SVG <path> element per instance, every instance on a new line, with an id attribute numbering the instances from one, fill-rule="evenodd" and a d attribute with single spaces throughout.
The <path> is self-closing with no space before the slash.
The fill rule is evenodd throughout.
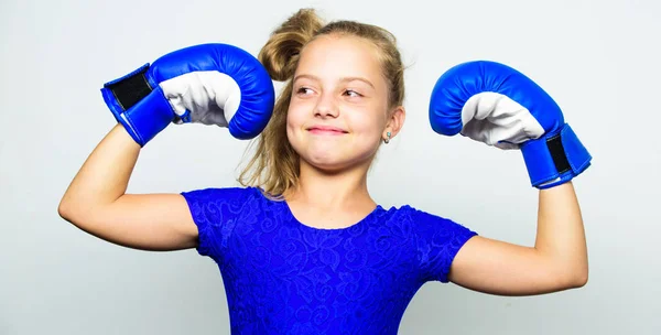
<path id="1" fill-rule="evenodd" d="M 647 1 L 15 1 L 0 4 L 0 334 L 227 334 L 216 264 L 86 235 L 57 204 L 115 125 L 101 85 L 170 51 L 231 43 L 257 55 L 301 7 L 399 39 L 408 119 L 371 171 L 382 205 L 412 204 L 480 235 L 534 244 L 538 192 L 520 152 L 429 126 L 437 77 L 477 58 L 522 71 L 561 105 L 594 155 L 575 180 L 588 238 L 586 287 L 494 296 L 437 282 L 401 334 L 660 334 L 661 4 Z M 278 86 L 280 87 L 280 86 Z M 172 126 L 142 151 L 132 193 L 236 185 L 248 142 Z"/>

